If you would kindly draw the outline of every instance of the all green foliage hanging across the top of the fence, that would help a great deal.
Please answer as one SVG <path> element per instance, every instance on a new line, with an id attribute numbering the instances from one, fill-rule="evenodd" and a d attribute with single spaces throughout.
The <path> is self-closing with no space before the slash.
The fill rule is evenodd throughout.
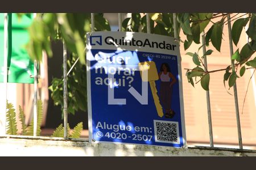
<path id="1" fill-rule="evenodd" d="M 205 44 L 212 44 L 214 48 L 221 52 L 223 27 L 228 23 L 229 13 L 178 13 L 177 14 L 177 33 L 180 35 L 182 31 L 186 37 L 181 40 L 184 49 L 189 49 L 192 42 L 201 43 L 201 33 L 205 33 Z M 199 56 L 199 52 L 192 53 L 192 61 L 197 66 L 194 69 L 187 70 L 188 82 L 195 86 L 194 80 L 199 78 L 196 83 L 201 82 L 204 90 L 209 90 L 210 74 L 216 71 L 226 71 L 224 74 L 225 82 L 229 82 L 229 87 L 236 82 L 237 71 L 240 71 L 240 76 L 244 75 L 245 71 L 250 66 L 255 68 L 255 61 L 251 59 L 256 50 L 256 14 L 249 13 L 245 15 L 234 14 L 231 20 L 232 25 L 232 40 L 235 45 L 238 45 L 242 31 L 245 31 L 249 37 L 249 42 L 237 50 L 232 56 L 232 65 L 226 69 L 209 71 L 203 64 L 203 58 L 212 54 L 213 50 L 208 49 L 203 56 Z M 245 25 L 247 24 L 247 30 Z M 174 36 L 174 19 L 172 13 L 150 13 L 151 33 Z M 209 29 L 207 29 L 209 28 Z M 110 31 L 108 21 L 102 13 L 95 14 L 95 29 L 96 31 Z M 28 52 L 32 58 L 42 58 L 42 50 L 46 50 L 49 56 L 52 56 L 50 41 L 64 40 L 67 48 L 72 56 L 69 58 L 69 68 L 79 57 L 80 64 L 76 65 L 72 75 L 68 77 L 68 112 L 75 114 L 79 109 L 86 110 L 86 82 L 85 75 L 85 34 L 90 30 L 90 13 L 87 14 L 43 14 L 38 15 L 35 22 L 31 25 L 31 39 L 28 44 Z M 122 31 L 147 32 L 146 15 L 142 13 L 133 13 L 130 18 L 126 18 L 122 22 Z M 202 46 L 200 46 L 201 48 Z M 200 50 L 199 48 L 199 50 Z M 236 63 L 234 63 L 236 61 Z M 230 72 L 231 71 L 231 72 Z M 52 81 L 50 90 L 52 98 L 56 105 L 63 107 L 63 82 L 62 78 L 55 78 Z"/>

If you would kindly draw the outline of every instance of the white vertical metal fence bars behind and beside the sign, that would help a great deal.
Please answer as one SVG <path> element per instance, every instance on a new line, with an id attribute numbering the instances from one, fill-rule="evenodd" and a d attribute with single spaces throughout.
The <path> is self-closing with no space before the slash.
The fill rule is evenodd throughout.
<path id="1" fill-rule="evenodd" d="M 118 28 L 119 31 L 122 31 L 122 14 L 118 13 Z M 34 15 L 36 16 L 36 14 Z M 176 13 L 173 14 L 173 19 L 174 19 L 174 36 L 175 40 L 179 41 L 178 35 L 177 35 L 177 18 L 176 18 Z M 91 13 L 91 27 L 92 31 L 94 30 L 94 13 Z M 146 20 L 147 20 L 147 33 L 151 33 L 150 30 L 150 14 L 146 13 Z M 5 27 L 4 27 L 4 56 L 7 58 L 7 14 L 5 14 Z M 231 23 L 230 23 L 230 15 L 228 15 L 228 32 L 229 32 L 229 45 L 230 45 L 230 59 L 231 56 L 233 55 L 233 45 L 232 45 L 232 35 L 231 35 Z M 206 45 L 205 45 L 205 33 L 204 31 L 201 33 L 201 40 L 202 40 L 202 45 L 203 45 L 203 54 L 205 55 L 206 53 Z M 77 59 L 78 61 L 79 59 Z M 73 69 L 77 61 L 74 63 L 74 65 L 71 67 L 69 71 L 67 71 L 67 48 L 65 46 L 65 42 L 63 42 L 63 76 L 64 76 L 64 93 L 63 93 L 63 98 L 64 98 L 64 139 L 68 138 L 68 84 L 67 84 L 67 75 L 70 73 L 70 71 Z M 181 60 L 180 60 L 181 61 Z M 37 75 L 37 65 L 38 62 L 34 61 L 34 71 L 35 71 L 35 76 L 34 76 L 34 120 L 37 118 L 37 99 L 38 99 L 38 86 L 37 86 L 37 81 L 38 81 L 38 76 Z M 207 57 L 204 57 L 204 65 L 207 68 Z M 231 65 L 232 65 L 232 70 L 234 71 L 234 61 L 231 59 Z M 206 69 L 205 68 L 205 69 Z M 5 83 L 5 90 L 7 91 L 7 61 L 5 61 L 5 78 L 4 78 L 4 83 Z M 241 134 L 241 125 L 240 125 L 240 115 L 239 115 L 239 109 L 238 109 L 238 97 L 237 97 L 237 87 L 236 83 L 234 84 L 234 101 L 235 101 L 235 108 L 236 108 L 236 120 L 237 120 L 237 133 L 238 133 L 238 141 L 239 141 L 239 147 L 240 150 L 243 149 L 243 143 L 242 143 L 242 134 Z M 211 109 L 210 109 L 210 94 L 209 91 L 206 91 L 206 99 L 207 99 L 207 113 L 208 113 L 208 125 L 209 125 L 209 141 L 210 141 L 210 147 L 214 148 L 214 141 L 213 141 L 213 130 L 212 130 L 212 116 L 211 116 Z M 5 97 L 7 99 L 7 94 L 5 94 Z M 5 108 L 6 110 L 6 108 Z M 5 122 L 4 122 L 5 123 Z M 37 121 L 34 121 L 34 137 L 36 137 L 36 131 L 37 131 L 38 125 Z"/>

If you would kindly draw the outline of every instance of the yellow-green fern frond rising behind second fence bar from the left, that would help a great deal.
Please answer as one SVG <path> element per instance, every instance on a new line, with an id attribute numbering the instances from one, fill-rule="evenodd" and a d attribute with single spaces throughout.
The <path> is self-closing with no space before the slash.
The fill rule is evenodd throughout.
<path id="1" fill-rule="evenodd" d="M 42 100 L 38 100 L 38 126 L 36 135 L 40 136 L 41 133 L 41 124 L 43 120 L 43 102 Z M 30 125 L 27 127 L 27 135 L 32 136 L 34 134 L 34 118 L 32 118 Z"/>

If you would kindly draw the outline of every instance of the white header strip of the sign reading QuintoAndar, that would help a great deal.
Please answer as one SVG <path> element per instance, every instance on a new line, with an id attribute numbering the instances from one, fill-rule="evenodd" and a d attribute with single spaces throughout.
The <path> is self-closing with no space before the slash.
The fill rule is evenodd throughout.
<path id="1" fill-rule="evenodd" d="M 90 35 L 90 36 L 89 36 Z M 87 49 L 134 50 L 179 55 L 174 37 L 137 32 L 91 32 L 87 35 Z"/>

